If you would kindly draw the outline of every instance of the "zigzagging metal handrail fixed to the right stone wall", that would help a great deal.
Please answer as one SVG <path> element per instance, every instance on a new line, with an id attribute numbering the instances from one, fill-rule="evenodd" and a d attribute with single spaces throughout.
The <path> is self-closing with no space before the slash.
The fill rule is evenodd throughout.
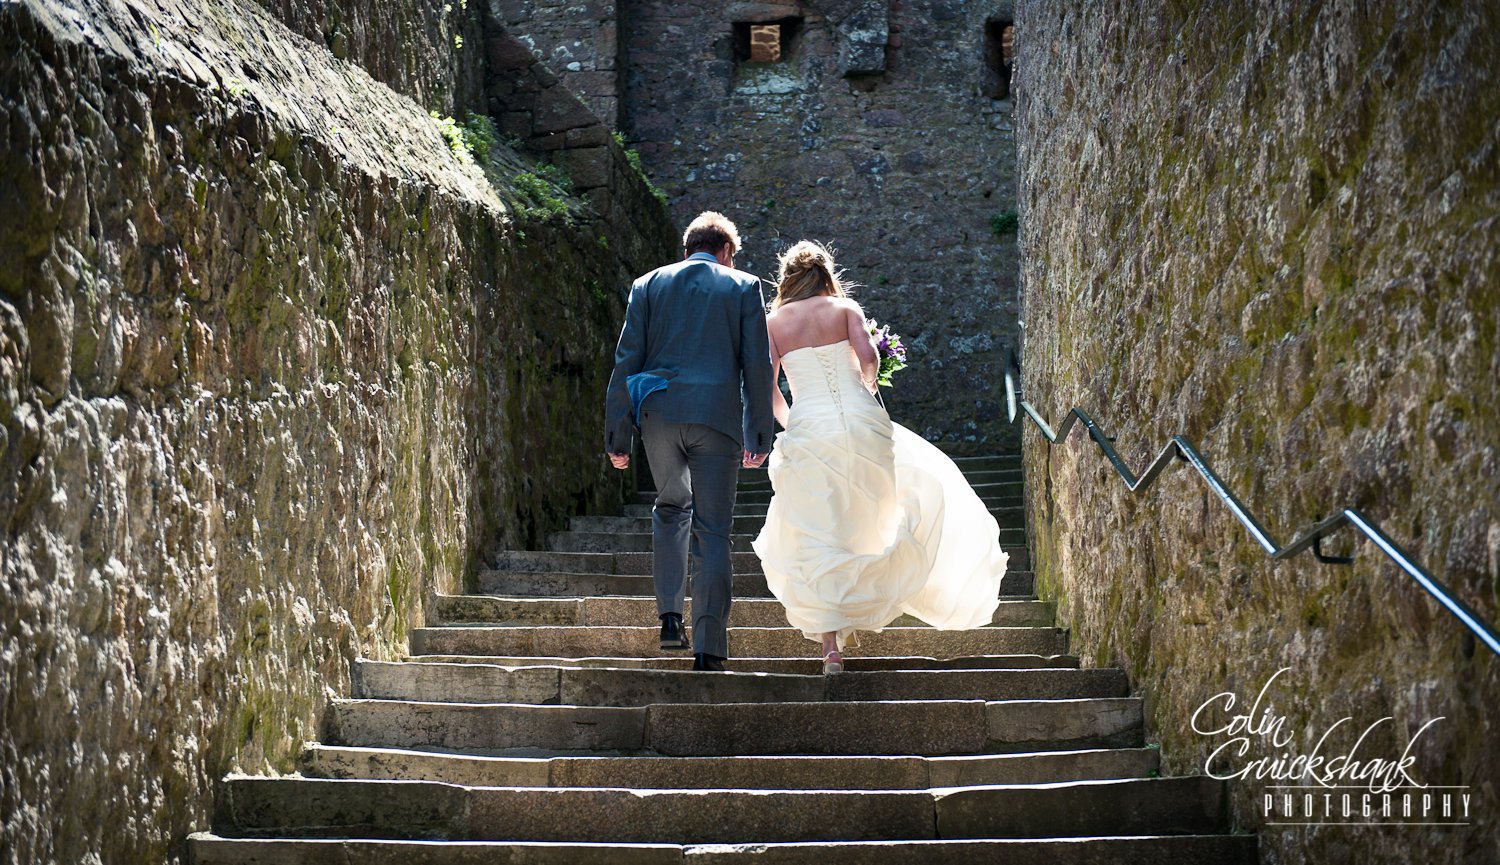
<path id="1" fill-rule="evenodd" d="M 1360 511 L 1354 508 L 1344 508 L 1338 514 L 1317 523 L 1316 526 L 1308 529 L 1302 537 L 1293 540 L 1290 544 L 1282 547 L 1276 544 L 1276 541 L 1270 537 L 1270 532 L 1266 531 L 1266 526 L 1260 525 L 1260 520 L 1257 520 L 1256 516 L 1250 513 L 1250 508 L 1246 508 L 1244 502 L 1234 498 L 1234 493 L 1232 493 L 1228 487 L 1224 486 L 1224 480 L 1220 478 L 1212 468 L 1209 468 L 1209 463 L 1206 459 L 1203 459 L 1203 454 L 1200 454 L 1198 450 L 1192 447 L 1192 442 L 1188 441 L 1185 436 L 1179 435 L 1172 436 L 1172 441 L 1161 448 L 1161 453 L 1158 453 L 1156 459 L 1154 459 L 1150 465 L 1146 466 L 1146 471 L 1140 477 L 1136 477 L 1136 474 L 1130 471 L 1130 466 L 1125 465 L 1125 460 L 1120 459 L 1120 456 L 1114 451 L 1114 447 L 1110 444 L 1114 441 L 1113 436 L 1106 435 L 1104 430 L 1100 429 L 1100 424 L 1095 423 L 1094 418 L 1089 417 L 1086 411 L 1077 406 L 1070 409 L 1068 415 L 1062 418 L 1062 423 L 1058 426 L 1058 429 L 1053 430 L 1052 426 L 1046 420 L 1042 420 L 1042 417 L 1029 402 L 1018 399 L 1017 384 L 1016 384 L 1017 378 L 1020 378 L 1020 366 L 1016 363 L 1016 352 L 1006 349 L 1005 406 L 1010 414 L 1011 423 L 1017 423 L 1018 412 L 1024 412 L 1024 415 L 1030 418 L 1032 423 L 1036 424 L 1036 429 L 1041 430 L 1041 435 L 1046 436 L 1048 442 L 1058 444 L 1068 438 L 1068 433 L 1072 432 L 1072 426 L 1076 423 L 1082 421 L 1083 427 L 1089 430 L 1089 438 L 1094 439 L 1094 444 L 1100 445 L 1100 450 L 1104 451 L 1104 459 L 1110 460 L 1110 465 L 1114 466 L 1114 471 L 1119 472 L 1119 475 L 1125 480 L 1125 486 L 1131 492 L 1140 492 L 1149 487 L 1150 483 L 1156 480 L 1156 475 L 1160 475 L 1161 471 L 1167 468 L 1167 465 L 1173 459 L 1186 460 L 1194 469 L 1197 469 L 1198 475 L 1204 481 L 1208 481 L 1209 489 L 1212 489 L 1218 495 L 1220 501 L 1222 501 L 1228 507 L 1230 513 L 1234 514 L 1234 519 L 1238 519 L 1240 525 L 1245 526 L 1245 529 L 1250 532 L 1250 537 L 1252 537 L 1256 543 L 1260 544 L 1260 547 L 1266 550 L 1266 553 L 1275 561 L 1290 559 L 1292 556 L 1302 553 L 1311 547 L 1312 556 L 1317 558 L 1317 561 L 1329 565 L 1353 564 L 1354 561 L 1353 556 L 1324 555 L 1322 544 L 1323 538 L 1326 538 L 1328 535 L 1334 534 L 1346 523 L 1348 523 L 1356 529 L 1359 529 L 1359 532 L 1364 534 L 1366 538 L 1374 541 L 1374 544 L 1380 549 L 1380 552 L 1383 552 L 1390 561 L 1394 561 L 1396 567 L 1406 571 L 1407 576 L 1410 576 L 1413 580 L 1418 582 L 1418 585 L 1426 589 L 1428 594 L 1437 598 L 1437 603 L 1443 604 L 1443 607 L 1448 609 L 1449 613 L 1456 616 L 1458 621 L 1464 624 L 1464 627 L 1473 631 L 1474 636 L 1479 637 L 1479 640 L 1484 642 L 1484 645 L 1488 646 L 1491 652 L 1500 655 L 1500 634 L 1496 633 L 1494 627 L 1480 619 L 1479 613 L 1476 613 L 1468 604 L 1455 598 L 1454 592 L 1450 592 L 1448 586 L 1444 586 L 1437 577 L 1426 573 L 1426 570 L 1422 568 L 1422 565 L 1413 562 L 1412 556 L 1408 556 L 1406 550 L 1402 550 L 1395 541 L 1392 541 L 1384 532 L 1382 532 L 1380 526 L 1377 526 L 1374 520 L 1371 520 Z"/>

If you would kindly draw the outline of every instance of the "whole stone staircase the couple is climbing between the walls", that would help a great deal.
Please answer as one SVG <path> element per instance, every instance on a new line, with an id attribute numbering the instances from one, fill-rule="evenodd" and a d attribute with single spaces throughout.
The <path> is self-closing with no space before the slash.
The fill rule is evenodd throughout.
<path id="1" fill-rule="evenodd" d="M 824 676 L 748 552 L 747 471 L 735 657 L 694 673 L 657 648 L 650 505 L 576 517 L 441 598 L 408 660 L 360 661 L 300 775 L 226 778 L 194 862 L 1256 862 L 1221 783 L 1156 777 L 1124 672 L 1066 655 L 1018 465 L 958 462 L 1011 552 L 992 627 L 897 621 Z"/>

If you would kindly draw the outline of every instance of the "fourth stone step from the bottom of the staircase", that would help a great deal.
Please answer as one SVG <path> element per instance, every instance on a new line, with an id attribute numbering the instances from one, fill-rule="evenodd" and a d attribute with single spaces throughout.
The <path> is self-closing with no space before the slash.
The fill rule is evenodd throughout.
<path id="1" fill-rule="evenodd" d="M 654 706 L 334 700 L 327 727 L 328 745 L 492 756 L 938 757 L 1143 744 L 1134 697 Z"/>

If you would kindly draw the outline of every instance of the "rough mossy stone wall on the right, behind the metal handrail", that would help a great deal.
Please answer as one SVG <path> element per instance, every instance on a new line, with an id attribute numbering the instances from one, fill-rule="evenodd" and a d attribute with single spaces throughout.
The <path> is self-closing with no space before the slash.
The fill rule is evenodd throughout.
<path id="1" fill-rule="evenodd" d="M 1282 543 L 1358 507 L 1500 619 L 1500 6 L 1018 6 L 1028 396 L 1137 469 L 1186 435 Z M 1396 759 L 1444 718 L 1413 777 L 1468 786 L 1468 826 L 1263 826 L 1275 781 L 1240 783 L 1266 862 L 1500 861 L 1500 658 L 1371 544 L 1272 564 L 1182 463 L 1132 496 L 1086 436 L 1032 436 L 1041 585 L 1167 769 L 1281 667 L 1293 753 L 1390 717 L 1360 754 Z"/>

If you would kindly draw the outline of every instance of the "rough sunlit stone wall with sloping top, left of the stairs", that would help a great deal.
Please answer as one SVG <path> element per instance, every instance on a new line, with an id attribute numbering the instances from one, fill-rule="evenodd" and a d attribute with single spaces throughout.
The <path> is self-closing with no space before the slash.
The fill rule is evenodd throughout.
<path id="1" fill-rule="evenodd" d="M 250 3 L 0 4 L 0 861 L 177 862 L 488 546 L 618 505 L 578 406 L 674 232 L 618 148 L 612 214 L 522 210 Z"/>

